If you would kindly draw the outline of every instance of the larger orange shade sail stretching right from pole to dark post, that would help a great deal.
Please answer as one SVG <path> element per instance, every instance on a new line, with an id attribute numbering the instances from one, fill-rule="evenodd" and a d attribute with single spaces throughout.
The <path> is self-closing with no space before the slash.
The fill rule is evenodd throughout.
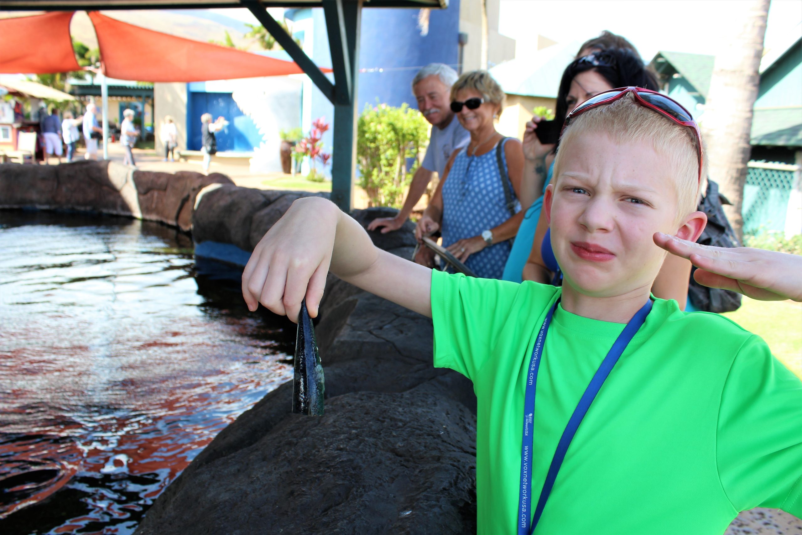
<path id="1" fill-rule="evenodd" d="M 201 43 L 90 11 L 103 74 L 143 82 L 203 82 L 303 74 L 297 63 Z M 322 69 L 330 72 L 330 69 Z"/>

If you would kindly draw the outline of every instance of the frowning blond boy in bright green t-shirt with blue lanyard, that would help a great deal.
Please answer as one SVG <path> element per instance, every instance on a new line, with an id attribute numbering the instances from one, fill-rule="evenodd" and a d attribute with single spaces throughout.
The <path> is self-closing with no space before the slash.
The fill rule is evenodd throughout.
<path id="1" fill-rule="evenodd" d="M 544 201 L 561 288 L 428 270 L 307 198 L 257 245 L 245 301 L 297 318 L 306 298 L 316 315 L 331 270 L 433 318 L 435 367 L 476 391 L 479 533 L 720 535 L 759 505 L 800 517 L 800 380 L 735 323 L 650 299 L 657 233 L 695 241 L 707 221 L 684 114 L 635 88 L 569 114 Z"/>

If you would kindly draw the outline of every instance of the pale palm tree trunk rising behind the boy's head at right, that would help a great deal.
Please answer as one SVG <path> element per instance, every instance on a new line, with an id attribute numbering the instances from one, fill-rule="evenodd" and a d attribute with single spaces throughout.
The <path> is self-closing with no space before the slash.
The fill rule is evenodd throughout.
<path id="1" fill-rule="evenodd" d="M 732 203 L 724 210 L 739 239 L 743 239 L 743 184 L 751 152 L 752 107 L 760 83 L 768 5 L 769 0 L 727 3 L 727 10 L 740 11 L 741 23 L 732 27 L 731 34 L 722 36 L 724 45 L 715 56 L 702 118 L 709 176 Z"/>

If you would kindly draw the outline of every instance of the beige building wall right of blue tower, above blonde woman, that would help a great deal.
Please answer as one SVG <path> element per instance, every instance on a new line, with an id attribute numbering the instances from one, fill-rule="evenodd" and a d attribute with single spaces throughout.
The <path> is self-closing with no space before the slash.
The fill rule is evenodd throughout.
<path id="1" fill-rule="evenodd" d="M 487 0 L 488 7 L 488 68 L 515 58 L 515 39 L 498 32 L 500 0 Z M 460 32 L 468 34 L 463 47 L 462 71 L 475 71 L 481 67 L 482 54 L 482 2 L 460 2 Z"/>

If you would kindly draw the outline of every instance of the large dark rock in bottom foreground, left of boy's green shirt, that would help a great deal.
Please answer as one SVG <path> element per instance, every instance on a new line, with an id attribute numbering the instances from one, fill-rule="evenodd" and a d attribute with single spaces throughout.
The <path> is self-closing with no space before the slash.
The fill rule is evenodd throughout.
<path id="1" fill-rule="evenodd" d="M 474 426 L 431 385 L 340 395 L 176 480 L 136 533 L 476 533 Z"/>

